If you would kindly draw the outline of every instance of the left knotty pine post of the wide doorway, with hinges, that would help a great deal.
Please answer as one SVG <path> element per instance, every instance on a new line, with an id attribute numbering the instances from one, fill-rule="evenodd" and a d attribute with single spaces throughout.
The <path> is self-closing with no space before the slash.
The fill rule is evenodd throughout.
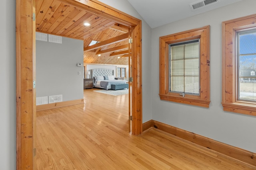
<path id="1" fill-rule="evenodd" d="M 33 169 L 33 113 L 35 113 L 33 111 L 35 109 L 33 9 L 33 1 L 16 0 L 17 170 Z"/>

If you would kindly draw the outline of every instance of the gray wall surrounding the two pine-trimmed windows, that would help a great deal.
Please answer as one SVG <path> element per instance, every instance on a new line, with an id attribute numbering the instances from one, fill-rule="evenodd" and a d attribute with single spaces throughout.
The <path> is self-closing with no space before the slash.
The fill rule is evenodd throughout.
<path id="1" fill-rule="evenodd" d="M 152 29 L 152 119 L 190 131 L 222 143 L 256 152 L 256 116 L 222 109 L 222 21 L 254 14 L 255 0 L 240 2 Z M 159 98 L 159 37 L 210 25 L 210 96 L 209 108 Z M 154 64 L 153 64 L 154 63 Z M 152 79 L 153 80 L 153 79 Z M 144 112 L 143 112 L 144 114 Z"/>

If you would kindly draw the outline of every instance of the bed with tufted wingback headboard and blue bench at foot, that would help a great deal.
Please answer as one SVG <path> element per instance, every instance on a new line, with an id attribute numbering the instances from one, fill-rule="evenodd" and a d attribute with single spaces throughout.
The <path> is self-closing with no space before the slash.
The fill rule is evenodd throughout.
<path id="1" fill-rule="evenodd" d="M 108 68 L 92 69 L 93 86 L 106 90 L 119 90 L 129 88 L 126 80 L 115 80 L 114 70 Z"/>

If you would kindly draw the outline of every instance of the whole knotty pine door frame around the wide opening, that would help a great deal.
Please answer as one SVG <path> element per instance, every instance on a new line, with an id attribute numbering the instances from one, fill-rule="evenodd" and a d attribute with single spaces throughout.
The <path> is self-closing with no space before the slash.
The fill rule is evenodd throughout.
<path id="1" fill-rule="evenodd" d="M 60 0 L 103 18 L 133 27 L 132 32 L 132 134 L 142 133 L 141 20 L 97 0 Z M 33 7 L 34 6 L 34 7 Z M 35 124 L 34 0 L 16 0 L 16 169 L 33 169 Z M 35 14 L 35 13 L 34 13 Z M 34 153 L 35 154 L 35 153 Z"/>

